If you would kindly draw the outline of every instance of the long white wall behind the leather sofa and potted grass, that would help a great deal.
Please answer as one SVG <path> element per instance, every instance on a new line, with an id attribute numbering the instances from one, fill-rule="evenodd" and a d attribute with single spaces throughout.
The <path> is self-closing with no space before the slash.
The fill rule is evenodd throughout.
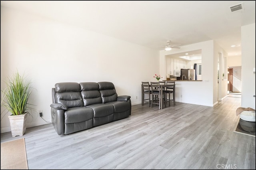
<path id="1" fill-rule="evenodd" d="M 1 6 L 1 90 L 16 70 L 32 80 L 30 103 L 51 122 L 51 89 L 58 82 L 111 81 L 118 95 L 140 104 L 141 81 L 154 81 L 159 73 L 159 52 Z M 46 124 L 33 114 L 27 127 Z M 9 119 L 1 114 L 1 132 L 6 131 Z"/>

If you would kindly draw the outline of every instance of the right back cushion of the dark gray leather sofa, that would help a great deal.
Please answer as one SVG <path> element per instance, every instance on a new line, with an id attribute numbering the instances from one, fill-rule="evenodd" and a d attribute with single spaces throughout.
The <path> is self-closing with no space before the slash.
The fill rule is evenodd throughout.
<path id="1" fill-rule="evenodd" d="M 113 83 L 108 81 L 98 82 L 100 87 L 100 95 L 102 98 L 102 103 L 108 103 L 117 100 L 116 89 Z"/>

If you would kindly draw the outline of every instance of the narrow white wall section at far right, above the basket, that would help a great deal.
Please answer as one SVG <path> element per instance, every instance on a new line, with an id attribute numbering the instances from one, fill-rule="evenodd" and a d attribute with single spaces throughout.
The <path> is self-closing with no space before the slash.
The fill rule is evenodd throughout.
<path id="1" fill-rule="evenodd" d="M 241 107 L 255 109 L 255 23 L 241 27 L 242 96 Z"/>

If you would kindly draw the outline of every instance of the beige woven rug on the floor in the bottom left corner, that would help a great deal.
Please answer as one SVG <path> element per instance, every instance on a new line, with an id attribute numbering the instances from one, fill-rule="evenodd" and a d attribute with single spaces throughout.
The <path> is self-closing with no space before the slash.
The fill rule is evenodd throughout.
<path id="1" fill-rule="evenodd" d="M 28 169 L 24 138 L 1 143 L 1 169 Z"/>

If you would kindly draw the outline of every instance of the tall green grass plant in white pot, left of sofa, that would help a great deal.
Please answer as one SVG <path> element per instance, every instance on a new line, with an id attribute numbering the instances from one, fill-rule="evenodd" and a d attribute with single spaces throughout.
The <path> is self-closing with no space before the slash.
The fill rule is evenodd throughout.
<path id="1" fill-rule="evenodd" d="M 12 137 L 22 136 L 26 131 L 27 116 L 30 114 L 28 110 L 32 109 L 28 103 L 32 92 L 30 81 L 25 80 L 24 74 L 20 75 L 17 71 L 14 75 L 8 77 L 5 83 L 6 88 L 2 91 L 1 106 L 7 109 L 7 111 L 4 110 L 6 111 L 5 115 L 8 112 L 12 114 L 8 116 Z"/>

